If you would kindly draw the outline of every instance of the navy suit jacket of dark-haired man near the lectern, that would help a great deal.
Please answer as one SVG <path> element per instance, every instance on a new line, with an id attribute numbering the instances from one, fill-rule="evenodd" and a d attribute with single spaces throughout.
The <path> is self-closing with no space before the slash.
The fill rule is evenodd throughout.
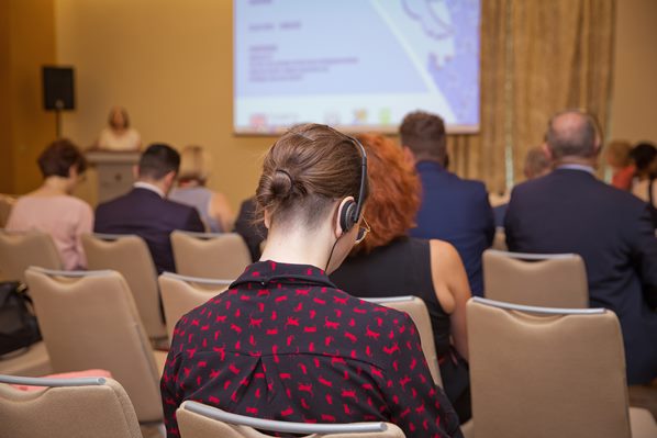
<path id="1" fill-rule="evenodd" d="M 136 234 L 146 240 L 157 273 L 176 272 L 169 235 L 176 229 L 204 231 L 197 210 L 159 196 L 148 189 L 134 188 L 127 194 L 96 209 L 96 233 Z"/>

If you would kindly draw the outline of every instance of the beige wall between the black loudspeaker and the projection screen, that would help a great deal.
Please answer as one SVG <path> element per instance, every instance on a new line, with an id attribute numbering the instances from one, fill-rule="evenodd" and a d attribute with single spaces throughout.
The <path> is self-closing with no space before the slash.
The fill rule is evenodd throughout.
<path id="1" fill-rule="evenodd" d="M 272 139 L 232 134 L 232 1 L 56 0 L 56 23 L 59 63 L 77 75 L 67 136 L 90 145 L 121 104 L 145 144 L 205 146 L 209 186 L 235 207 L 254 192 Z"/>

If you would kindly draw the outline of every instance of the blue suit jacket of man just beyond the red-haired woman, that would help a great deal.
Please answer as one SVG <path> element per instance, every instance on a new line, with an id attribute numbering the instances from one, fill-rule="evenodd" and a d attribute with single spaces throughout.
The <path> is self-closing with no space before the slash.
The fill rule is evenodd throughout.
<path id="1" fill-rule="evenodd" d="M 416 169 L 422 180 L 422 204 L 411 236 L 454 245 L 468 273 L 472 294 L 481 296 L 481 254 L 495 235 L 486 186 L 460 179 L 434 161 L 420 161 Z"/>

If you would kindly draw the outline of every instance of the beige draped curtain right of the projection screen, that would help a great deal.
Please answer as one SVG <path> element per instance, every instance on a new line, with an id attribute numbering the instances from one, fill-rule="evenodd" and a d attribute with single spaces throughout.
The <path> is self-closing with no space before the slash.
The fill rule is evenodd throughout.
<path id="1" fill-rule="evenodd" d="M 449 136 L 452 169 L 501 193 L 556 111 L 586 109 L 604 130 L 614 11 L 615 0 L 482 0 L 481 130 Z"/>

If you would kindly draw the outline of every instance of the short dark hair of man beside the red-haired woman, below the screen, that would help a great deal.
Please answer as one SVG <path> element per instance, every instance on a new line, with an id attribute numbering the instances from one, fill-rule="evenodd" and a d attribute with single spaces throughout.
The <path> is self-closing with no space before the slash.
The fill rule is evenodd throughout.
<path id="1" fill-rule="evenodd" d="M 445 122 L 439 115 L 424 111 L 407 114 L 399 127 L 401 144 L 411 149 L 415 158 L 433 158 L 441 162 L 447 157 Z"/>

